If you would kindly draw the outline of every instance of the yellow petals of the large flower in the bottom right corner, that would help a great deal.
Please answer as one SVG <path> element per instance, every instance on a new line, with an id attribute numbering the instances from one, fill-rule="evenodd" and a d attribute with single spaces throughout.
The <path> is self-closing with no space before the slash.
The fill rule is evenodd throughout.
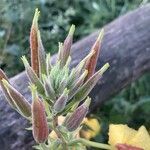
<path id="1" fill-rule="evenodd" d="M 134 130 L 127 125 L 111 124 L 109 126 L 109 144 L 112 146 L 112 150 L 117 150 L 115 147 L 117 144 L 150 150 L 150 135 L 144 126 Z"/>

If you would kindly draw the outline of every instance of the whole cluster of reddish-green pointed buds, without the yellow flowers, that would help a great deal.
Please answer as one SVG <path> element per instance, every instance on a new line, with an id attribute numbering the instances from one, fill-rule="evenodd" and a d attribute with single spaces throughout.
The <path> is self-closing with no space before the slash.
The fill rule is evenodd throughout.
<path id="1" fill-rule="evenodd" d="M 44 143 L 48 139 L 50 131 L 48 128 L 52 130 L 57 128 L 51 122 L 59 115 L 66 116 L 62 125 L 68 131 L 80 128 L 91 101 L 88 94 L 108 69 L 109 64 L 106 63 L 95 73 L 104 33 L 101 30 L 90 53 L 76 67 L 70 69 L 70 51 L 75 31 L 75 26 L 72 25 L 64 43 L 59 43 L 58 57 L 52 65 L 50 54 L 45 53 L 42 44 L 38 17 L 39 11 L 36 9 L 30 32 L 31 66 L 26 57 L 22 57 L 30 80 L 32 104 L 11 86 L 2 70 L 0 70 L 0 84 L 9 104 L 24 117 L 30 117 L 29 120 L 32 120 L 35 141 Z M 45 102 L 48 104 L 47 108 Z"/>

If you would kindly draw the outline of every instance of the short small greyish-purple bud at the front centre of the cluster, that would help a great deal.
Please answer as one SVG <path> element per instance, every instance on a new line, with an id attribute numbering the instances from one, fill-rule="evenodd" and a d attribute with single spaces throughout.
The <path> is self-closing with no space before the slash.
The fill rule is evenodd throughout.
<path id="1" fill-rule="evenodd" d="M 54 104 L 54 111 L 55 112 L 61 112 L 66 106 L 67 100 L 68 100 L 68 93 L 69 91 L 67 89 L 64 90 L 63 94 L 56 100 Z"/>

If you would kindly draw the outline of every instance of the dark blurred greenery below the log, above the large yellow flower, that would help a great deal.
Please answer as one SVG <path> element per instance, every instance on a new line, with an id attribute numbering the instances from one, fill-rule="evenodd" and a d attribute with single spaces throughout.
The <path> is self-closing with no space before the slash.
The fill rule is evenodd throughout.
<path id="1" fill-rule="evenodd" d="M 94 140 L 107 142 L 109 124 L 128 124 L 138 129 L 141 125 L 150 131 L 150 74 L 146 74 L 117 96 L 107 101 L 96 116 L 102 132 Z"/>

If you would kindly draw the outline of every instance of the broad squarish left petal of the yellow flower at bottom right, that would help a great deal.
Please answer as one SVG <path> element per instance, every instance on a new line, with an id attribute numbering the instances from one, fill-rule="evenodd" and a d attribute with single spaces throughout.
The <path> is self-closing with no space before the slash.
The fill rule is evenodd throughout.
<path id="1" fill-rule="evenodd" d="M 131 140 L 135 134 L 136 130 L 129 128 L 127 125 L 114 125 L 109 126 L 109 141 L 108 143 L 115 147 L 118 143 L 128 144 L 128 141 Z"/>

